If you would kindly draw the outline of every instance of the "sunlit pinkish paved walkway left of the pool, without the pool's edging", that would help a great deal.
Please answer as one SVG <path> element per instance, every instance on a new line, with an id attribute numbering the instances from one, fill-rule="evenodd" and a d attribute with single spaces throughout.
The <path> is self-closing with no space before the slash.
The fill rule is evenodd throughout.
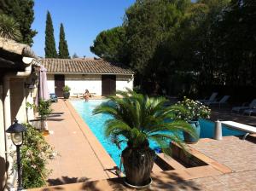
<path id="1" fill-rule="evenodd" d="M 83 127 L 73 119 L 65 101 L 59 100 L 52 107 L 55 112 L 63 112 L 55 119 L 63 120 L 48 121 L 49 130 L 53 130 L 54 134 L 46 136 L 46 140 L 59 154 L 55 159 L 49 160 L 49 169 L 53 170 L 49 179 L 61 179 L 61 177 L 73 178 L 73 181 L 75 178 L 79 180 L 84 177 L 89 180 L 107 179 L 108 173 L 104 171 L 102 161 L 90 147 L 87 137 L 81 130 Z M 106 157 L 106 154 L 102 156 Z"/>

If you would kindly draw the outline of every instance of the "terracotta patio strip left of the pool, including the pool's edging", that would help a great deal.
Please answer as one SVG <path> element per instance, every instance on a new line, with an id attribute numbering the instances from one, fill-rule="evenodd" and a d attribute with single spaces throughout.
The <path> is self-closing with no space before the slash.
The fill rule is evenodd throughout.
<path id="1" fill-rule="evenodd" d="M 71 113 L 72 108 L 68 107 L 70 105 L 66 101 L 59 99 L 52 104 L 54 112 L 48 119 L 49 130 L 53 134 L 45 136 L 46 141 L 57 153 L 55 159 L 49 160 L 48 168 L 53 170 L 48 179 L 49 185 L 116 177 L 107 171 L 115 165 L 111 157 L 102 150 L 84 121 L 79 121 L 79 117 L 74 116 L 76 113 Z M 84 131 L 87 131 L 86 135 Z"/>

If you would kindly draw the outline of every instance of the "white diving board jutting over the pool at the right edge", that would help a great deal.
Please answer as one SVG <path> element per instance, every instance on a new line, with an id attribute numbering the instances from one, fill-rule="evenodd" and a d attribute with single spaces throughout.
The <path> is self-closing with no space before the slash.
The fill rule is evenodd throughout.
<path id="1" fill-rule="evenodd" d="M 236 129 L 236 130 L 241 130 L 241 131 L 247 132 L 247 134 L 245 136 L 243 136 L 243 140 L 245 140 L 246 137 L 249 134 L 256 133 L 256 127 L 253 127 L 253 126 L 250 126 L 250 125 L 247 125 L 247 124 L 240 124 L 240 123 L 237 123 L 235 121 L 222 121 L 221 124 L 224 124 L 227 127 L 230 127 L 232 129 Z"/>

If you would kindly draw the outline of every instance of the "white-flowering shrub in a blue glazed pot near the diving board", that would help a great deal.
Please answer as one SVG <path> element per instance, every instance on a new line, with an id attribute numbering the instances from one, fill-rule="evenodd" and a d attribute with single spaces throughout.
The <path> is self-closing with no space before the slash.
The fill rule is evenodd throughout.
<path id="1" fill-rule="evenodd" d="M 198 142 L 201 132 L 199 119 L 209 119 L 211 109 L 204 106 L 200 101 L 190 100 L 187 97 L 183 101 L 178 101 L 176 106 L 185 107 L 186 110 L 176 112 L 176 119 L 183 119 L 187 121 L 196 132 L 196 136 L 190 136 L 187 132 L 183 131 L 184 141 L 187 143 Z"/>

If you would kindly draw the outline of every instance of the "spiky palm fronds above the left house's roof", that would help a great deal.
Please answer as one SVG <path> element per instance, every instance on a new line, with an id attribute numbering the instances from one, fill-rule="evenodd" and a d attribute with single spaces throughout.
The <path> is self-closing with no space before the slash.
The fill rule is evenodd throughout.
<path id="1" fill-rule="evenodd" d="M 0 37 L 20 41 L 20 26 L 14 18 L 0 14 Z"/>

